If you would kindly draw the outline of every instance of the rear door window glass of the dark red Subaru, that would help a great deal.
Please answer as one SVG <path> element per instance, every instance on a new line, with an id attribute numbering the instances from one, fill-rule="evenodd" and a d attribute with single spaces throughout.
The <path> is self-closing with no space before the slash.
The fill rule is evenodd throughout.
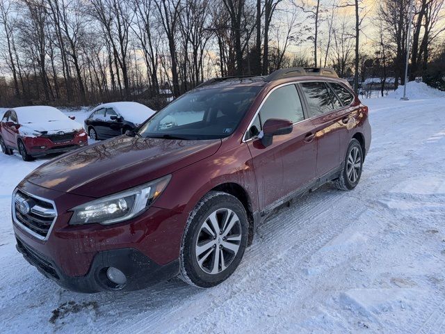
<path id="1" fill-rule="evenodd" d="M 334 109 L 330 93 L 323 82 L 305 82 L 301 84 L 309 104 L 309 113 L 312 117 L 322 115 Z"/>

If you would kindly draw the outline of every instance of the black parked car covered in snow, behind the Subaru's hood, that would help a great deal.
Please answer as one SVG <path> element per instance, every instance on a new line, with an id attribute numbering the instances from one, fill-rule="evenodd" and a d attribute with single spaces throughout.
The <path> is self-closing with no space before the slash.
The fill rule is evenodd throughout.
<path id="1" fill-rule="evenodd" d="M 85 130 L 92 139 L 106 139 L 134 130 L 155 111 L 138 102 L 100 104 L 85 120 Z"/>

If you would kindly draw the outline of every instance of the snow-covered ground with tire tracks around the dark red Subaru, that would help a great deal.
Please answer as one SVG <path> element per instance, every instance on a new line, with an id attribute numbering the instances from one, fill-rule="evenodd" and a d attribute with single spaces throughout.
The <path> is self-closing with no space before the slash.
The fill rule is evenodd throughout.
<path id="1" fill-rule="evenodd" d="M 1 155 L 0 332 L 444 333 L 445 98 L 365 103 L 357 188 L 327 184 L 281 209 L 213 289 L 61 289 L 17 253 L 10 222 L 14 186 L 44 160 Z"/>

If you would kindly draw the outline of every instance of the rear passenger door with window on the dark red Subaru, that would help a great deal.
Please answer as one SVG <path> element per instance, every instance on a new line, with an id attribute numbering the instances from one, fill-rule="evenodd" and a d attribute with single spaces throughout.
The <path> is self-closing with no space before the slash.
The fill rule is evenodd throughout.
<path id="1" fill-rule="evenodd" d="M 340 165 L 343 106 L 322 81 L 299 84 L 314 126 L 317 146 L 316 176 L 323 177 Z"/>

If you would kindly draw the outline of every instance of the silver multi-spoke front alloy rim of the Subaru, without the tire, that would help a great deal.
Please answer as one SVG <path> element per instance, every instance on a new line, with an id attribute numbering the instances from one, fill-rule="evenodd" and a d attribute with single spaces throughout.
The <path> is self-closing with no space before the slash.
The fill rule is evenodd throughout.
<path id="1" fill-rule="evenodd" d="M 212 212 L 197 235 L 195 256 L 202 271 L 217 274 L 232 263 L 241 244 L 241 223 L 230 209 Z"/>

